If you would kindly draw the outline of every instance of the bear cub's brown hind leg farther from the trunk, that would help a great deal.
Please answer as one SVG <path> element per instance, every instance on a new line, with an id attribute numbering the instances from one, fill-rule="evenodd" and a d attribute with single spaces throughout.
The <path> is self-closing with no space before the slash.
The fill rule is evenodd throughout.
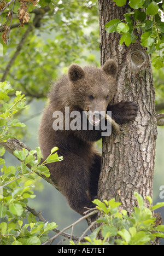
<path id="1" fill-rule="evenodd" d="M 68 154 L 63 156 L 60 168 L 62 177 L 58 185 L 61 192 L 66 196 L 69 206 L 83 216 L 87 211 L 84 207 L 95 207 L 88 196 L 90 173 L 87 164 L 83 158 Z"/>

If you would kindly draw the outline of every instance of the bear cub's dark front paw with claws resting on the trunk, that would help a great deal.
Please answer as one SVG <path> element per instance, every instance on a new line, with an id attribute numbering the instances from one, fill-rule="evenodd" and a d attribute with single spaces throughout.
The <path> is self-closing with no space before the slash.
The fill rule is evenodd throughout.
<path id="1" fill-rule="evenodd" d="M 114 105 L 109 105 L 108 111 L 112 111 L 112 119 L 118 124 L 133 121 L 137 116 L 138 106 L 131 101 L 121 101 Z"/>

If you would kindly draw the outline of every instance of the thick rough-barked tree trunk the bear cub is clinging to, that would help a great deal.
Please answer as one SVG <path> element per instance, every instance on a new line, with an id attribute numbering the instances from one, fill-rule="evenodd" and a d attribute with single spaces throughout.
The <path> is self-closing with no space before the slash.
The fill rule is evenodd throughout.
<path id="1" fill-rule="evenodd" d="M 144 197 L 145 207 L 153 196 L 155 142 L 155 91 L 151 70 L 151 56 L 138 42 L 126 46 L 119 44 L 120 34 L 109 34 L 104 29 L 112 19 L 125 19 L 128 5 L 117 7 L 112 0 L 99 0 L 101 65 L 115 59 L 119 67 L 118 91 L 114 103 L 130 100 L 138 104 L 135 121 L 121 126 L 103 138 L 102 170 L 99 177 L 98 199 L 115 198 L 128 213 L 136 206 L 133 195 L 137 191 Z M 137 34 L 140 38 L 141 34 Z"/>

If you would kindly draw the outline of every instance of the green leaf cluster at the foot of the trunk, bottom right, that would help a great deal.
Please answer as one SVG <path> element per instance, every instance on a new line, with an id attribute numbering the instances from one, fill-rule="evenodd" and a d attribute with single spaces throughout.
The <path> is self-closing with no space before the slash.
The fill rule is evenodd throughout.
<path id="1" fill-rule="evenodd" d="M 134 195 L 138 207 L 133 207 L 134 212 L 130 216 L 127 211 L 119 210 L 121 203 L 115 199 L 104 202 L 95 199 L 96 208 L 102 212 L 102 217 L 97 219 L 101 225 L 85 237 L 88 242 L 79 245 L 151 245 L 156 237 L 164 238 L 164 225 L 155 226 L 156 218 L 153 217 L 153 211 L 164 206 L 164 202 L 151 207 L 152 200 L 147 196 L 150 207 L 146 208 L 143 197 L 136 192 Z M 102 239 L 97 238 L 100 232 Z"/>

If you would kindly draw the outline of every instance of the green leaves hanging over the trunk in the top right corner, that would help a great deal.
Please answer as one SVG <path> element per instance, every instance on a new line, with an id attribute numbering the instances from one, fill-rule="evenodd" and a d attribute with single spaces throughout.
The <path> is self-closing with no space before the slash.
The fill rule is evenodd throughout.
<path id="1" fill-rule="evenodd" d="M 126 0 L 113 0 L 119 7 L 126 4 Z M 148 48 L 147 52 L 157 54 L 152 59 L 152 65 L 157 69 L 164 67 L 164 22 L 162 14 L 164 10 L 163 1 L 159 0 L 131 0 L 125 19 L 110 20 L 106 25 L 106 31 L 112 33 L 117 31 L 122 34 L 120 44 L 129 46 L 136 42 L 138 32 L 142 31 L 140 37 L 141 45 Z"/>

